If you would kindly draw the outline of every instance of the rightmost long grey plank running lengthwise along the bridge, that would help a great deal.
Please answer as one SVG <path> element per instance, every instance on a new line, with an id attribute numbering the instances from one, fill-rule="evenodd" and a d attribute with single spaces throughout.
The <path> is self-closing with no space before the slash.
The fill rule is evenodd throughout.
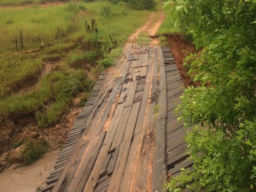
<path id="1" fill-rule="evenodd" d="M 164 68 L 164 57 L 161 47 L 159 53 L 159 115 L 156 120 L 155 140 L 156 146 L 153 153 L 152 167 L 152 192 L 163 190 L 163 183 L 166 182 L 166 149 L 165 149 L 165 125 L 167 115 L 166 101 L 166 75 Z"/>

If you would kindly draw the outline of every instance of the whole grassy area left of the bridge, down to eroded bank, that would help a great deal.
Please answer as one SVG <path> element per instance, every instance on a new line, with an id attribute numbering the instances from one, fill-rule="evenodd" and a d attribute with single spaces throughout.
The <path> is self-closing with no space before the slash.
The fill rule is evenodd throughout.
<path id="1" fill-rule="evenodd" d="M 0 119 L 33 114 L 38 126 L 48 127 L 68 111 L 79 92 L 84 92 L 84 104 L 95 82 L 88 74 L 113 64 L 129 34 L 142 26 L 149 14 L 102 1 L 1 9 Z M 85 20 L 91 19 L 96 20 L 98 36 L 86 33 Z M 23 32 L 23 51 L 19 31 Z M 38 49 L 43 35 L 44 45 L 53 45 Z"/>

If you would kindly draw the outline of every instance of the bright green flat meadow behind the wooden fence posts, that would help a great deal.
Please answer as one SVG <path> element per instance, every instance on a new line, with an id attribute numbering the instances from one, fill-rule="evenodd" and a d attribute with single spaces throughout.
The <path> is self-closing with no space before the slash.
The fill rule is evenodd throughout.
<path id="1" fill-rule="evenodd" d="M 70 11 L 70 5 L 59 5 L 54 7 L 31 7 L 24 9 L 2 9 L 0 10 L 0 52 L 15 50 L 14 40 L 20 45 L 20 31 L 23 32 L 24 48 L 38 48 L 44 35 L 44 45 L 59 41 L 57 28 L 60 29 L 61 40 L 76 32 L 83 31 L 85 34 L 85 20 L 96 19 L 96 27 L 100 36 L 112 35 L 119 43 L 127 39 L 127 35 L 145 22 L 148 11 L 135 11 L 120 5 L 111 5 L 109 19 L 102 19 L 99 12 L 107 2 L 78 2 L 87 11 Z M 79 8 L 78 8 L 79 9 Z M 135 22 L 136 21 L 136 22 Z M 90 22 L 89 22 L 90 24 Z"/>

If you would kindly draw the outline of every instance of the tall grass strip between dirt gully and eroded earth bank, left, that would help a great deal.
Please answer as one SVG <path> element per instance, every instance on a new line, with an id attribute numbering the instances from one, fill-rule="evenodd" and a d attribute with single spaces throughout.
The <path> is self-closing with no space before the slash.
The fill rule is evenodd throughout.
<path id="1" fill-rule="evenodd" d="M 45 112 L 47 103 L 71 99 L 73 95 L 83 90 L 86 86 L 85 78 L 86 74 L 81 70 L 49 73 L 42 79 L 36 90 L 22 95 L 13 94 L 0 100 L 0 118 L 7 118 L 13 113 L 36 112 L 42 107 L 45 107 L 43 110 Z"/>

